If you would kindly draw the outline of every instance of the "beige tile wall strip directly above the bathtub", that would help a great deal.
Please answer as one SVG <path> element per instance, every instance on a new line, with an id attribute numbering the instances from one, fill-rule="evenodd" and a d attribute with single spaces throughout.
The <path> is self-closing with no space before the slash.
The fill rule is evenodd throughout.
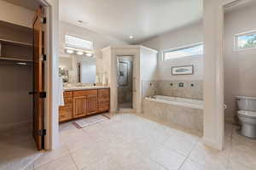
<path id="1" fill-rule="evenodd" d="M 203 81 L 143 82 L 143 97 L 154 94 L 188 99 L 203 99 Z"/>

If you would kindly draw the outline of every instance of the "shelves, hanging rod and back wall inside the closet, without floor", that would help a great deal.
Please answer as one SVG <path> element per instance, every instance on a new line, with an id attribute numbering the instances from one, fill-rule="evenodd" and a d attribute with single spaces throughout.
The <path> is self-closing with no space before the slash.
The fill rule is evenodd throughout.
<path id="1" fill-rule="evenodd" d="M 0 21 L 1 125 L 32 123 L 32 28 Z"/>

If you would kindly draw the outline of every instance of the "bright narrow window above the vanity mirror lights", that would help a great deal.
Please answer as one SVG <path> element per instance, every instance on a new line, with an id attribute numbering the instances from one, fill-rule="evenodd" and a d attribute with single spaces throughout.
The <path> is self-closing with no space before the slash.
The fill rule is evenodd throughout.
<path id="1" fill-rule="evenodd" d="M 93 49 L 93 42 L 69 35 L 65 35 L 65 44 L 71 48 Z"/>

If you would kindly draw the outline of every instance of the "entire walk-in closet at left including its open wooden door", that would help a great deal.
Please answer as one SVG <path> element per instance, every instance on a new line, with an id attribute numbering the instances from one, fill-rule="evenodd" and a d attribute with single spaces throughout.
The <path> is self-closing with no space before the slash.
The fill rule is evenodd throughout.
<path id="1" fill-rule="evenodd" d="M 0 16 L 1 170 L 25 169 L 43 148 L 35 131 L 39 108 L 40 119 L 44 118 L 44 99 L 38 97 L 41 91 L 37 88 L 44 88 L 43 8 L 38 4 L 29 9 L 12 2 L 0 0 L 1 13 L 6 14 Z"/>

